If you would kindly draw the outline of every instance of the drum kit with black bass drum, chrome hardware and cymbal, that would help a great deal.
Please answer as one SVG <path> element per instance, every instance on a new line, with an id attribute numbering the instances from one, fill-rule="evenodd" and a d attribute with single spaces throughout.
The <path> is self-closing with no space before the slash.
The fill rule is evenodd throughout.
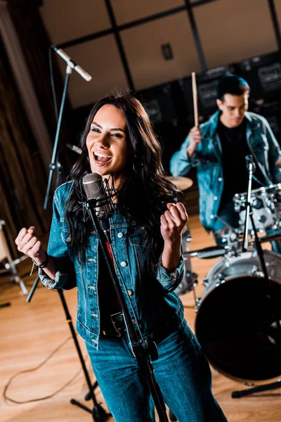
<path id="1" fill-rule="evenodd" d="M 176 179 L 170 178 L 179 188 Z M 190 187 L 190 183 L 190 179 L 185 185 L 181 180 L 181 186 Z M 281 254 L 263 250 L 271 286 L 268 294 L 251 224 L 249 248 L 242 252 L 247 194 L 237 193 L 233 202 L 239 212 L 239 228 L 228 229 L 222 235 L 221 245 L 192 251 L 188 246 L 192 241 L 188 227 L 183 233 L 185 279 L 176 293 L 183 295 L 192 289 L 195 293 L 197 274 L 192 272 L 192 257 L 220 257 L 202 282 L 202 298 L 195 295 L 195 333 L 214 369 L 248 383 L 281 374 Z M 251 191 L 251 203 L 257 231 L 266 232 L 259 241 L 280 240 L 281 184 Z"/>

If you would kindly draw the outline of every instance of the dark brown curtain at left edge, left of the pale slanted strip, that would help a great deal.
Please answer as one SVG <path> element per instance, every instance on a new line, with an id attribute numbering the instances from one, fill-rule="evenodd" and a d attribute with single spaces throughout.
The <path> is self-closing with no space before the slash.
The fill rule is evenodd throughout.
<path id="1" fill-rule="evenodd" d="M 43 210 L 46 174 L 0 39 L 0 218 L 13 258 L 22 226 L 46 233 L 51 212 Z"/>

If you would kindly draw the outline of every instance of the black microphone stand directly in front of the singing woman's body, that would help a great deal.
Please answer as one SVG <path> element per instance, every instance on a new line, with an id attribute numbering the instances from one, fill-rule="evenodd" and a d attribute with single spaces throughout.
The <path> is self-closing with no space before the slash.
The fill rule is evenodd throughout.
<path id="1" fill-rule="evenodd" d="M 87 200 L 86 203 L 84 203 L 84 205 L 86 206 L 86 209 L 88 210 L 89 217 L 91 218 L 91 222 L 95 226 L 96 232 L 98 234 L 98 241 L 100 242 L 100 247 L 105 257 L 107 269 L 110 273 L 110 278 L 112 279 L 113 286 L 115 288 L 117 297 L 122 307 L 122 312 L 124 315 L 126 328 L 128 330 L 129 338 L 131 340 L 133 354 L 136 357 L 141 375 L 143 376 L 145 382 L 147 383 L 150 393 L 152 395 L 152 399 L 155 402 L 155 407 L 159 415 L 159 422 L 168 422 L 168 418 L 166 416 L 166 408 L 164 404 L 164 399 L 162 397 L 162 392 L 159 388 L 159 385 L 157 384 L 157 381 L 155 380 L 155 376 L 153 374 L 154 369 L 150 360 L 150 357 L 152 360 L 155 360 L 158 358 L 157 345 L 155 344 L 155 342 L 148 342 L 146 340 L 143 340 L 143 335 L 141 334 L 141 331 L 139 328 L 138 328 L 138 331 L 139 331 L 141 340 L 138 339 L 136 328 L 129 314 L 129 309 L 126 305 L 126 301 L 124 299 L 122 289 L 119 285 L 115 268 L 112 264 L 112 260 L 107 250 L 106 240 L 109 243 L 111 243 L 110 238 L 107 238 L 107 239 L 105 238 L 105 233 L 103 229 L 101 228 L 101 223 L 98 217 L 96 216 L 96 212 L 92 212 L 92 208 L 95 207 L 95 204 L 96 204 L 95 199 Z M 117 263 L 115 262 L 115 264 Z"/>

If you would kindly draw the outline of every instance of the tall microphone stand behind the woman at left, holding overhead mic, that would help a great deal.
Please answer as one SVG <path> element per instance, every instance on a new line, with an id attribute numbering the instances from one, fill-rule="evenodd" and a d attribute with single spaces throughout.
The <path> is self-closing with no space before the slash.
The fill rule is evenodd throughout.
<path id="1" fill-rule="evenodd" d="M 51 191 L 51 183 L 52 183 L 52 179 L 53 179 L 53 172 L 54 172 L 54 170 L 57 170 L 58 173 L 60 173 L 60 174 L 62 173 L 62 171 L 61 171 L 62 166 L 60 165 L 60 163 L 57 160 L 58 139 L 59 139 L 59 136 L 60 136 L 60 127 L 61 127 L 61 122 L 63 120 L 63 110 L 65 108 L 65 99 L 66 99 L 66 94 L 67 94 L 67 87 L 68 87 L 68 84 L 69 84 L 69 81 L 70 81 L 70 75 L 72 73 L 72 68 L 73 68 L 72 63 L 67 62 L 67 68 L 66 68 L 66 71 L 65 71 L 65 73 L 66 73 L 65 84 L 64 84 L 64 88 L 63 88 L 63 97 L 62 97 L 62 101 L 60 103 L 60 113 L 59 113 L 59 116 L 58 116 L 58 124 L 57 124 L 56 133 L 55 133 L 55 142 L 54 142 L 54 146 L 53 146 L 53 154 L 52 154 L 52 158 L 51 158 L 51 164 L 49 166 L 50 172 L 49 172 L 49 176 L 48 176 L 48 186 L 47 186 L 47 189 L 46 189 L 46 196 L 45 196 L 45 200 L 44 200 L 44 210 L 46 210 L 46 207 L 48 205 L 48 197 L 49 197 L 50 191 Z M 57 178 L 57 181 L 56 181 L 56 185 L 57 185 L 56 187 L 59 186 L 58 178 Z M 30 302 L 30 300 L 32 300 L 32 296 L 34 295 L 34 291 L 36 290 L 38 283 L 39 283 L 39 276 L 37 276 L 36 280 L 34 281 L 33 286 L 30 290 L 30 293 L 27 296 L 26 302 Z M 84 371 L 86 383 L 87 383 L 88 388 L 89 388 L 89 395 L 90 395 L 91 399 L 93 400 L 93 409 L 89 409 L 89 407 L 84 406 L 84 404 L 77 402 L 77 400 L 75 400 L 75 399 L 71 399 L 70 403 L 75 404 L 78 407 L 80 407 L 81 409 L 84 409 L 84 410 L 88 411 L 90 414 L 92 414 L 93 421 L 95 421 L 95 422 L 107 421 L 107 419 L 111 416 L 111 414 L 107 414 L 105 412 L 103 407 L 101 407 L 100 404 L 97 402 L 96 397 L 94 395 L 93 388 L 96 388 L 97 383 L 94 386 L 92 386 L 92 384 L 91 384 L 89 373 L 86 369 L 86 365 L 85 365 L 85 362 L 84 362 L 84 359 L 83 359 L 83 355 L 81 353 L 81 349 L 80 349 L 80 346 L 79 346 L 79 343 L 78 343 L 78 340 L 77 340 L 77 335 L 75 333 L 75 330 L 74 330 L 74 327 L 73 327 L 73 324 L 72 324 L 72 318 L 70 316 L 70 312 L 67 308 L 67 303 L 66 303 L 65 297 L 63 295 L 63 290 L 59 288 L 58 294 L 60 295 L 60 300 L 63 304 L 63 309 L 65 310 L 66 320 L 67 320 L 67 323 L 69 324 L 70 331 L 71 331 L 71 334 L 72 334 L 72 338 L 74 340 L 74 345 L 77 349 L 77 353 L 78 353 L 78 356 L 79 356 L 79 359 L 80 359 L 80 362 L 81 362 L 81 366 L 82 366 L 82 369 Z"/>

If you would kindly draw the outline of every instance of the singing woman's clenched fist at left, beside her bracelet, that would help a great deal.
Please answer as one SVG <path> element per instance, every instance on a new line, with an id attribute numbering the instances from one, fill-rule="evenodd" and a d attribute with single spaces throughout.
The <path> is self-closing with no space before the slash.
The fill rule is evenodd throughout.
<path id="1" fill-rule="evenodd" d="M 41 242 L 36 236 L 35 227 L 29 229 L 23 227 L 15 239 L 18 250 L 32 258 L 37 264 L 42 264 L 46 260 L 46 252 L 42 249 Z"/>

